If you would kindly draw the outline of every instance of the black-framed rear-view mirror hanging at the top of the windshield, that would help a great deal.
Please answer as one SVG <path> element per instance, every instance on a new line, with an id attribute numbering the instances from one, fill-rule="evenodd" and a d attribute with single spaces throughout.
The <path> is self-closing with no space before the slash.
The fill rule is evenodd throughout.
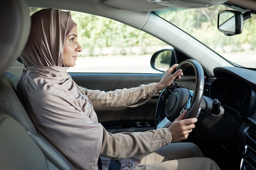
<path id="1" fill-rule="evenodd" d="M 225 35 L 236 35 L 243 30 L 243 13 L 240 11 L 221 11 L 218 14 L 218 30 Z"/>

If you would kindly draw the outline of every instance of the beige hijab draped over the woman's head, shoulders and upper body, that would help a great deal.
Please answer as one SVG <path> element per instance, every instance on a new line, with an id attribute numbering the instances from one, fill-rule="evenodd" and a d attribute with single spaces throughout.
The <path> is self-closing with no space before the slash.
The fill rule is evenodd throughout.
<path id="1" fill-rule="evenodd" d="M 103 127 L 62 58 L 66 35 L 74 26 L 70 12 L 43 9 L 31 16 L 29 40 L 20 55 L 25 69 L 18 96 L 36 129 L 76 169 L 96 170 Z"/>

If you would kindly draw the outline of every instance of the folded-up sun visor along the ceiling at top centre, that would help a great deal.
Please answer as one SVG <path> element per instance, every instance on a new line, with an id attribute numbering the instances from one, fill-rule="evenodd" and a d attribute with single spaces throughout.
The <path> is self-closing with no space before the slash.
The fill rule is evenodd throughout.
<path id="1" fill-rule="evenodd" d="M 104 0 L 105 4 L 130 11 L 155 11 L 166 8 L 200 8 L 227 2 L 227 0 Z"/>

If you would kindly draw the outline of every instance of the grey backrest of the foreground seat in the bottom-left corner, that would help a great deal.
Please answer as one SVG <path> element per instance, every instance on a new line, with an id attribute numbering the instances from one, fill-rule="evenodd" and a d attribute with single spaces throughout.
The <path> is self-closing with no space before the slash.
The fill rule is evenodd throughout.
<path id="1" fill-rule="evenodd" d="M 48 170 L 45 155 L 27 132 L 0 107 L 0 169 Z"/>

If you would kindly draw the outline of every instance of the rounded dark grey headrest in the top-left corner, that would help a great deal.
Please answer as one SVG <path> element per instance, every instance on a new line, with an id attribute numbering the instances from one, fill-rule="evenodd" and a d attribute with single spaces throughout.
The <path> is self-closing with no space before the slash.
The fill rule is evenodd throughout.
<path id="1" fill-rule="evenodd" d="M 31 21 L 25 0 L 2 0 L 0 5 L 0 74 L 24 49 Z"/>

